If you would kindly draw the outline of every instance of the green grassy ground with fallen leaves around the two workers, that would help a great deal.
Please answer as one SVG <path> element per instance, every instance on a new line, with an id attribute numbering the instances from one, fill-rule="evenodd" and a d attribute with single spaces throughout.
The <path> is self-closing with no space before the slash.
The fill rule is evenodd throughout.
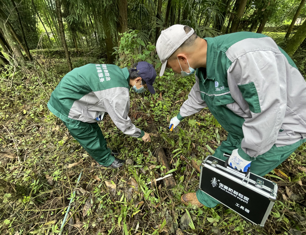
<path id="1" fill-rule="evenodd" d="M 187 99 L 194 77 L 166 73 L 157 78 L 155 95 L 131 93 L 134 124 L 144 130 L 155 125 L 158 130 L 150 143 L 123 135 L 109 117 L 100 124 L 110 148 L 132 163 L 122 169 L 106 169 L 96 167 L 47 109 L 50 94 L 67 72 L 63 56 L 40 53 L 38 62 L 41 66 L 33 63 L 28 70 L 17 68 L 14 80 L 13 68 L 1 74 L 0 151 L 12 157 L 0 155 L 1 234 L 57 234 L 81 171 L 63 234 L 175 234 L 177 228 L 185 229 L 186 234 L 306 231 L 305 200 L 294 201 L 286 192 L 287 187 L 289 192 L 305 195 L 306 173 L 298 168 L 306 166 L 305 145 L 278 167 L 288 178 L 270 172 L 269 179 L 278 183 L 279 192 L 265 227 L 253 226 L 223 205 L 186 207 L 180 202 L 181 195 L 197 190 L 199 174 L 181 155 L 200 163 L 210 154 L 209 149 L 215 150 L 226 139 L 226 132 L 208 109 L 184 119 L 180 128 L 169 132 L 169 120 Z M 72 57 L 73 67 L 97 62 L 96 57 Z M 146 185 L 163 175 L 163 166 L 154 156 L 160 146 L 171 168 L 177 169 L 172 172 L 177 185 L 171 190 L 161 181 Z M 71 167 L 73 163 L 77 164 Z M 183 223 L 182 218 L 189 222 Z"/>

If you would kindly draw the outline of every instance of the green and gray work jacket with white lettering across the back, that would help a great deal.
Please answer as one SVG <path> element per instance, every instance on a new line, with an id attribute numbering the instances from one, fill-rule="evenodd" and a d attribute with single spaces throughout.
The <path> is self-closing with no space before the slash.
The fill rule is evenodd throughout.
<path id="1" fill-rule="evenodd" d="M 96 123 L 108 113 L 126 135 L 141 138 L 144 132 L 127 115 L 130 110 L 130 73 L 116 65 L 88 64 L 67 73 L 48 102 L 64 122 Z"/>

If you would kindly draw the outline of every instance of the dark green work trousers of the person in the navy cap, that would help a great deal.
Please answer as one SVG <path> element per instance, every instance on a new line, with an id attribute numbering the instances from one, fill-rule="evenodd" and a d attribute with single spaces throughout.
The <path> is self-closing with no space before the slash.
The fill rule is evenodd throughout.
<path id="1" fill-rule="evenodd" d="M 68 123 L 62 121 L 68 128 L 70 134 L 76 139 L 87 153 L 98 163 L 109 166 L 115 160 L 111 150 L 107 148 L 107 142 L 97 123 L 83 123 L 74 121 Z"/>

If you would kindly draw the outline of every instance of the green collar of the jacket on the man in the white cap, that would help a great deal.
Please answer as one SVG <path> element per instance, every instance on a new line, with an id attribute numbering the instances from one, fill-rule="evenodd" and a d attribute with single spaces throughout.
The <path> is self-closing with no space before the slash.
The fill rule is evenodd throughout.
<path id="1" fill-rule="evenodd" d="M 215 64 L 217 56 L 217 43 L 214 38 L 205 38 L 207 41 L 206 73 L 207 79 L 215 79 Z"/>

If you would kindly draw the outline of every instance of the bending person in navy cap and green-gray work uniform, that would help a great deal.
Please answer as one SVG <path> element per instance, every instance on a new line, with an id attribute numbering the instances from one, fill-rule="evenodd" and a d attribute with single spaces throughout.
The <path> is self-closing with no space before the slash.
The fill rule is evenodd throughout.
<path id="1" fill-rule="evenodd" d="M 147 62 L 135 63 L 130 69 L 88 64 L 62 78 L 50 97 L 48 108 L 99 166 L 120 167 L 125 161 L 116 158 L 118 153 L 107 147 L 98 122 L 108 114 L 124 134 L 150 141 L 149 134 L 135 127 L 127 114 L 130 87 L 136 93 L 148 90 L 155 94 L 155 78 L 156 71 Z"/>

